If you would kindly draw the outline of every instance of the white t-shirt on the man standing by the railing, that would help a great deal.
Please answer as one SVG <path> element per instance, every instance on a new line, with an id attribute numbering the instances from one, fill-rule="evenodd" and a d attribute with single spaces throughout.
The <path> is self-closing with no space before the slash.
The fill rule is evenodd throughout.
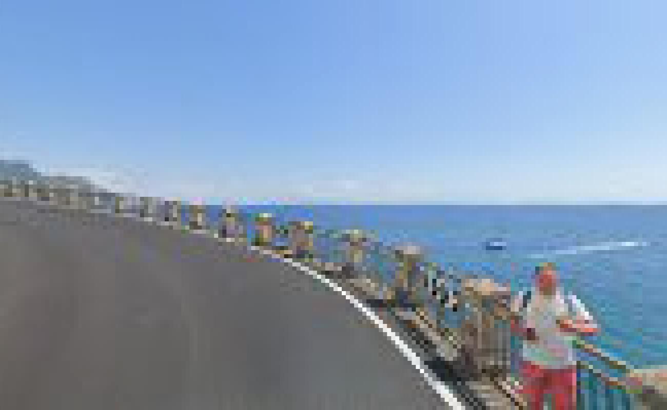
<path id="1" fill-rule="evenodd" d="M 518 300 L 522 300 L 522 295 Z M 523 311 L 523 319 L 524 327 L 535 329 L 538 340 L 523 341 L 524 360 L 551 369 L 576 365 L 576 353 L 572 346 L 575 336 L 561 331 L 557 323 L 559 318 L 565 317 L 590 319 L 590 314 L 574 295 L 568 295 L 566 301 L 560 291 L 551 298 L 545 298 L 536 289 L 532 291 L 530 302 Z"/>

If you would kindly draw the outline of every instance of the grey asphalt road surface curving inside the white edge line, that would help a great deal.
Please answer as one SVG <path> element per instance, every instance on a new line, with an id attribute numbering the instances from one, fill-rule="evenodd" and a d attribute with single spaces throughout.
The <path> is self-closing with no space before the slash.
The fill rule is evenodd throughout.
<path id="1" fill-rule="evenodd" d="M 450 409 L 340 294 L 244 247 L 0 201 L 3 409 Z"/>

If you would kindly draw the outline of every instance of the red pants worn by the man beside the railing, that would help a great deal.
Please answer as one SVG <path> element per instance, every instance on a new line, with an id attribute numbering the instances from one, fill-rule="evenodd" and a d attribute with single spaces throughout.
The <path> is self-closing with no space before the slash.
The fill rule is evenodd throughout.
<path id="1" fill-rule="evenodd" d="M 554 410 L 574 410 L 577 402 L 577 369 L 548 369 L 524 361 L 521 368 L 524 397 L 528 409 L 544 409 L 545 393 L 552 393 Z"/>

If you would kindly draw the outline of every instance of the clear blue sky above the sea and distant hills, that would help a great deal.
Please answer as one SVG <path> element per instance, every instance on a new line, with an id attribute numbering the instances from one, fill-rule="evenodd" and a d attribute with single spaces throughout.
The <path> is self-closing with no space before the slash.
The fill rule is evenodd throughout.
<path id="1" fill-rule="evenodd" d="M 0 155 L 157 195 L 667 199 L 665 1 L 0 2 Z"/>

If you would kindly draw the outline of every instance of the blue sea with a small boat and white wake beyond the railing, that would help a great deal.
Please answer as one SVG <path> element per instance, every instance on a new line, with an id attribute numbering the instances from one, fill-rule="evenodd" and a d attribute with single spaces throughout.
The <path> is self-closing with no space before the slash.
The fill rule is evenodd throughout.
<path id="1" fill-rule="evenodd" d="M 599 343 L 638 366 L 667 364 L 667 206 L 664 205 L 267 205 L 283 221 L 360 228 L 387 243 L 423 245 L 427 257 L 530 284 L 554 261 L 566 290 L 602 326 Z M 484 242 L 502 238 L 505 251 Z"/>

